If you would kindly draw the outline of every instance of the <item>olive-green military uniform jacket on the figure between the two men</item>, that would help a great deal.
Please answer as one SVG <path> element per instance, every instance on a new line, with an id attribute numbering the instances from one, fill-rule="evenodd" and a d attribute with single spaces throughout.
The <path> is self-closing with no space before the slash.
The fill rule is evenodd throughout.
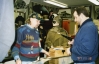
<path id="1" fill-rule="evenodd" d="M 63 35 L 68 35 L 67 31 L 59 26 L 55 26 L 49 30 L 45 44 L 47 47 L 68 46 L 68 40 Z"/>

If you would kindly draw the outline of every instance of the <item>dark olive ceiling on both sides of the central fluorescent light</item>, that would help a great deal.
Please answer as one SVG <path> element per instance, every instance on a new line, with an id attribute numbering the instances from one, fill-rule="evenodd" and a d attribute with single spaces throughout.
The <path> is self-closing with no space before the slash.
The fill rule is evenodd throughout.
<path id="1" fill-rule="evenodd" d="M 47 4 L 43 2 L 43 0 L 31 0 L 32 2 L 41 4 L 41 5 L 46 5 L 46 6 L 51 6 L 51 7 L 56 7 L 54 5 Z M 93 3 L 89 2 L 88 0 L 57 0 L 62 3 L 66 3 L 68 7 L 73 7 L 73 6 L 82 6 L 82 5 L 94 5 Z"/>

